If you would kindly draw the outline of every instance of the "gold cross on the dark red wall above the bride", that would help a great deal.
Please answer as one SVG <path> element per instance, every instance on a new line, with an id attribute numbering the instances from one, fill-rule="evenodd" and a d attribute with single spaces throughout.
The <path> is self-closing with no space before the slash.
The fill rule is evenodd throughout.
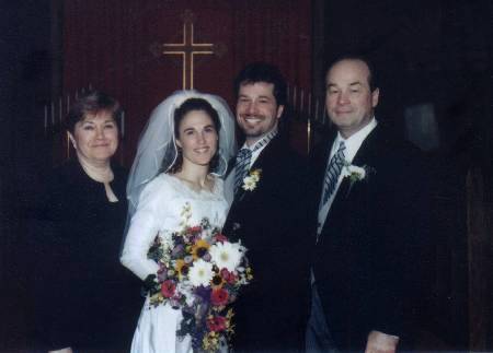
<path id="1" fill-rule="evenodd" d="M 162 45 L 163 55 L 179 55 L 182 57 L 183 90 L 194 89 L 194 57 L 196 55 L 213 55 L 214 44 L 195 43 L 194 19 L 192 11 L 186 10 L 183 15 L 183 43 L 165 43 Z"/>

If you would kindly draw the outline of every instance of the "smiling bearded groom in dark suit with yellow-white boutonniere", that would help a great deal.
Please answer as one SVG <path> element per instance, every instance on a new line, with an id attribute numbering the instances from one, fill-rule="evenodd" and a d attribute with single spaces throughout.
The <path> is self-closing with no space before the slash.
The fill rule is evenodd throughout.
<path id="1" fill-rule="evenodd" d="M 234 87 L 245 140 L 227 177 L 234 199 L 223 231 L 248 248 L 253 280 L 234 304 L 233 348 L 297 352 L 308 311 L 307 166 L 278 130 L 286 104 L 279 70 L 249 64 Z"/>

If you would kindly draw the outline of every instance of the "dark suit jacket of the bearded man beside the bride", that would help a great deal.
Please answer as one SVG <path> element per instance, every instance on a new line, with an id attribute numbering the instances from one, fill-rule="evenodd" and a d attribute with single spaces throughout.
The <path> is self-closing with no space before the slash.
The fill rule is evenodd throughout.
<path id="1" fill-rule="evenodd" d="M 300 351 L 309 292 L 307 163 L 277 136 L 253 169 L 262 169 L 260 181 L 236 195 L 223 228 L 246 246 L 254 275 L 234 304 L 233 348 Z"/>

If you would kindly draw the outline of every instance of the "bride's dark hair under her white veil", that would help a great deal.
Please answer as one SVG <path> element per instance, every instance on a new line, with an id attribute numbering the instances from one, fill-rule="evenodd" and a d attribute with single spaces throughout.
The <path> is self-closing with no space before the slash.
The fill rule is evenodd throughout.
<path id="1" fill-rule="evenodd" d="M 213 120 L 214 128 L 216 129 L 217 136 L 219 138 L 219 130 L 221 129 L 221 121 L 219 120 L 219 115 L 217 114 L 216 109 L 213 108 L 210 103 L 208 103 L 204 98 L 188 98 L 185 102 L 182 103 L 182 105 L 174 110 L 174 138 L 175 140 L 180 139 L 180 123 L 182 122 L 185 115 L 193 110 L 202 110 L 205 114 L 207 114 L 210 117 L 210 120 Z M 176 161 L 174 162 L 173 166 L 170 168 L 170 173 L 177 173 L 182 169 L 183 165 L 183 155 L 180 148 L 177 148 L 177 156 Z M 219 143 L 217 146 L 216 154 L 213 156 L 209 163 L 209 170 L 214 170 L 217 167 L 217 164 L 219 162 Z"/>

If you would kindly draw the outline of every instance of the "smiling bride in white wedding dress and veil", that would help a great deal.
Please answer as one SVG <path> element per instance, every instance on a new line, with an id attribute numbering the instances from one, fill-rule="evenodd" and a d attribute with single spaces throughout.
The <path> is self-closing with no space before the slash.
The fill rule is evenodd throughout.
<path id="1" fill-rule="evenodd" d="M 152 111 L 127 185 L 130 223 L 121 258 L 145 283 L 160 269 L 148 257 L 156 236 L 180 232 L 184 209 L 187 224 L 207 217 L 222 226 L 229 205 L 219 177 L 234 150 L 234 120 L 218 96 L 179 91 Z M 182 320 L 180 308 L 151 305 L 148 294 L 131 352 L 192 352 L 191 336 L 176 334 Z"/>

